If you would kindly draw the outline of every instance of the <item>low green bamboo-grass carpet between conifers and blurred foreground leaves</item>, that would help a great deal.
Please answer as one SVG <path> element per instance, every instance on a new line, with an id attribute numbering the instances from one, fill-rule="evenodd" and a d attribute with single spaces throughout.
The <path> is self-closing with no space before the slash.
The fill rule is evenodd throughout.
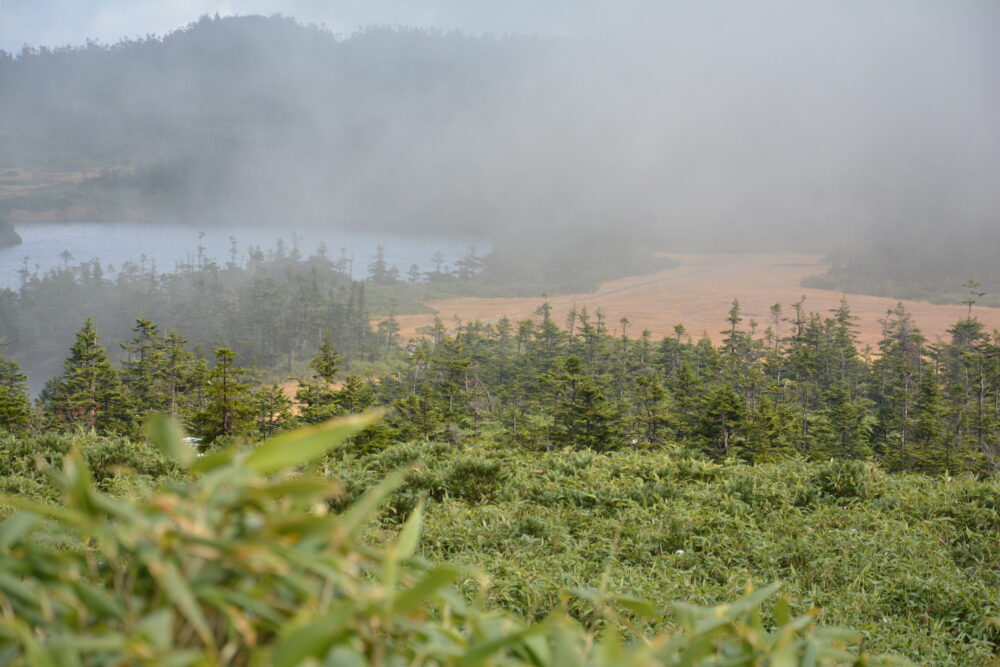
<path id="1" fill-rule="evenodd" d="M 578 587 L 717 604 L 781 581 L 797 610 L 823 609 L 872 652 L 988 664 L 1000 642 L 996 480 L 437 443 L 348 453 L 330 472 L 353 498 L 402 465 L 414 468 L 382 525 L 428 497 L 424 555 L 488 574 L 490 602 L 522 616 L 568 604 L 595 621 L 567 598 Z"/>

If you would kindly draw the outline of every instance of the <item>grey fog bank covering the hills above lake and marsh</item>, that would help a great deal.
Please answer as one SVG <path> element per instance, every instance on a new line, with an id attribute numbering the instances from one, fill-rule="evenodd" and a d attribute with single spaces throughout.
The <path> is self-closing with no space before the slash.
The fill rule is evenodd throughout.
<path id="1" fill-rule="evenodd" d="M 996 3 L 564 4 L 494 21 L 530 36 L 425 29 L 496 14 L 446 4 L 421 29 L 203 19 L 27 48 L 0 62 L 0 160 L 122 170 L 86 202 L 112 218 L 673 249 L 995 225 Z"/>

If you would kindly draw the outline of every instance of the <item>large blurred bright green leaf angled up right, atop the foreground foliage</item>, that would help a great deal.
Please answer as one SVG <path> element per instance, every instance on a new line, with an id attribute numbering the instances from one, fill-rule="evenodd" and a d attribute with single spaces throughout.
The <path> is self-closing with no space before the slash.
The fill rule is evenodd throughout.
<path id="1" fill-rule="evenodd" d="M 369 412 L 283 433 L 252 451 L 243 465 L 247 470 L 268 475 L 308 463 L 371 426 L 380 417 L 379 412 Z"/>

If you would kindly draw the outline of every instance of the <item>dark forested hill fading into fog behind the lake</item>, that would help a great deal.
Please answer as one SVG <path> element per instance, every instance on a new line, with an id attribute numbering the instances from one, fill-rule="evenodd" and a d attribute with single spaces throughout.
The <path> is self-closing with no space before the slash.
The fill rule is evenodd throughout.
<path id="1" fill-rule="evenodd" d="M 494 95 L 548 45 L 388 28 L 338 39 L 244 16 L 110 46 L 2 53 L 0 166 L 107 169 L 6 208 L 82 202 L 98 214 L 363 217 L 369 227 L 405 216 L 468 233 L 491 222 L 485 206 L 470 214 L 469 192 L 482 198 L 503 178 L 496 168 L 483 178 L 479 165 L 501 161 L 486 136 Z M 470 149 L 476 136 L 484 143 Z"/>

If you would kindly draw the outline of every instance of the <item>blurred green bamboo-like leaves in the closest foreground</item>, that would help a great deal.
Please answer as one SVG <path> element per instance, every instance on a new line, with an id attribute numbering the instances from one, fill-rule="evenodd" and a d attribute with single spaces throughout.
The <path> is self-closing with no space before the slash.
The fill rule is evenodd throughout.
<path id="1" fill-rule="evenodd" d="M 133 502 L 102 492 L 71 450 L 52 471 L 60 505 L 5 498 L 22 509 L 0 524 L 6 663 L 898 664 L 859 657 L 857 635 L 794 616 L 783 599 L 764 607 L 774 586 L 714 608 L 577 591 L 608 624 L 599 634 L 562 612 L 530 623 L 483 610 L 451 588 L 462 569 L 417 557 L 420 506 L 394 539 L 358 541 L 401 474 L 332 514 L 323 501 L 337 485 L 294 472 L 370 421 L 184 456 L 185 480 Z M 184 451 L 176 430 L 151 432 Z M 75 540 L 47 544 L 49 526 Z"/>

